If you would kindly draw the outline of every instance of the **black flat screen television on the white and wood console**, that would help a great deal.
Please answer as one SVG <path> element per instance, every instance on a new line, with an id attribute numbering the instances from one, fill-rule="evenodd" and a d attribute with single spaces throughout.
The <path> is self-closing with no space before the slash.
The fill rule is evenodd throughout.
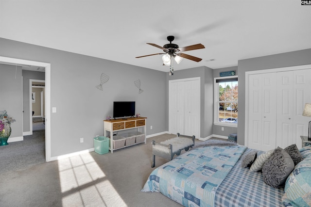
<path id="1" fill-rule="evenodd" d="M 113 118 L 135 116 L 135 101 L 114 101 Z"/>

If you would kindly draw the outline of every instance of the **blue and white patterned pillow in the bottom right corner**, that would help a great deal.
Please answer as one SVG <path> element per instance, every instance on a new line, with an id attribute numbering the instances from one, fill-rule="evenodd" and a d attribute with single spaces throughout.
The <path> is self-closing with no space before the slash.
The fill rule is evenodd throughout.
<path id="1" fill-rule="evenodd" d="M 299 162 L 288 176 L 282 202 L 286 206 L 311 206 L 311 156 Z"/>

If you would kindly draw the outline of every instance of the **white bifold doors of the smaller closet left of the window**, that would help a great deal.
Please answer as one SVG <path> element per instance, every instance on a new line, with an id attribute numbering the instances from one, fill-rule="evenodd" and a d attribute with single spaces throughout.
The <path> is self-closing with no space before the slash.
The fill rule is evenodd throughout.
<path id="1" fill-rule="evenodd" d="M 169 82 L 169 131 L 200 137 L 200 80 Z"/>

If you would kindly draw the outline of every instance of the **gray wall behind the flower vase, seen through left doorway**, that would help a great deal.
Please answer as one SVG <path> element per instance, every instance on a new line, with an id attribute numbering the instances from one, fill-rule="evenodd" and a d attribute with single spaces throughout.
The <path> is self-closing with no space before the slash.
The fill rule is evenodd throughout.
<path id="1" fill-rule="evenodd" d="M 0 64 L 0 111 L 6 110 L 16 120 L 10 137 L 23 136 L 21 87 L 21 67 Z"/>

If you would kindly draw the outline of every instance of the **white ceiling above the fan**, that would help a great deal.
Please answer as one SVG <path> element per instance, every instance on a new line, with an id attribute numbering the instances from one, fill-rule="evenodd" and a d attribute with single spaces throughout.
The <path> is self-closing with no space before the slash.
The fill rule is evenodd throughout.
<path id="1" fill-rule="evenodd" d="M 0 37 L 169 71 L 147 45 L 201 43 L 174 70 L 311 48 L 311 6 L 300 0 L 0 0 Z M 216 61 L 208 61 L 216 59 Z"/>

